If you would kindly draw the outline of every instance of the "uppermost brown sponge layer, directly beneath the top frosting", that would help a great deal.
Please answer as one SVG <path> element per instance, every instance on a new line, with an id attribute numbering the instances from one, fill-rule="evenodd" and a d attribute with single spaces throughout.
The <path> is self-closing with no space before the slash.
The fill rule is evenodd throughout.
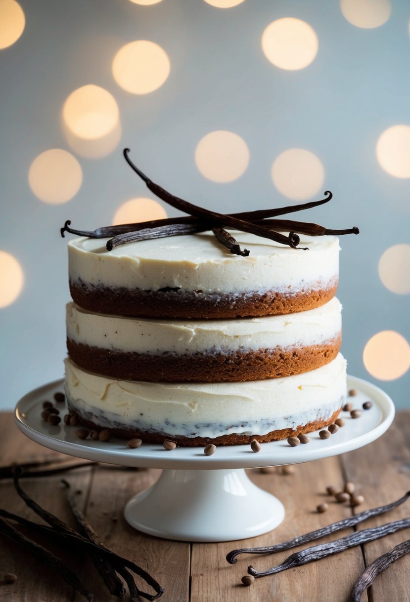
<path id="1" fill-rule="evenodd" d="M 110 288 L 70 281 L 73 300 L 88 311 L 102 314 L 145 316 L 157 318 L 237 318 L 292 314 L 319 307 L 331 300 L 337 282 L 328 288 L 302 290 L 295 293 L 204 294 L 180 289 L 164 288 L 157 291 Z"/>

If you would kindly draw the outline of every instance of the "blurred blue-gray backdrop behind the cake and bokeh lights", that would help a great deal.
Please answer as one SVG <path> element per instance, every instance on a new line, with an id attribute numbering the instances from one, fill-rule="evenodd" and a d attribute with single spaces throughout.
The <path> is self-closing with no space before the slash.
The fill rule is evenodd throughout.
<path id="1" fill-rule="evenodd" d="M 356 1 L 365 20 L 369 2 Z M 408 0 L 375 0 L 373 17 L 387 11 L 388 18 L 367 28 L 350 22 L 337 0 L 245 0 L 231 8 L 204 0 L 162 0 L 151 6 L 130 0 L 19 4 L 24 31 L 0 50 L 0 251 L 17 259 L 24 285 L 14 302 L 0 309 L 0 408 L 13 408 L 32 388 L 63 376 L 69 300 L 67 238 L 60 237 L 65 220 L 82 229 L 109 225 L 124 202 L 152 196 L 127 167 L 124 146 L 154 181 L 225 213 L 291 204 L 272 181 L 272 164 L 287 149 L 316 155 L 324 182 L 306 200 L 322 198 L 328 189 L 334 198 L 300 214 L 301 219 L 361 230 L 359 236 L 341 238 L 338 297 L 348 371 L 381 386 L 397 407 L 409 407 L 406 138 L 397 143 L 399 151 L 391 151 L 392 161 L 399 152 L 402 175 L 387 173 L 376 158 L 385 130 L 410 126 Z M 282 17 L 301 19 L 316 32 L 317 55 L 304 69 L 281 69 L 262 51 L 263 31 Z M 1 27 L 0 17 L 0 39 Z M 118 50 L 135 40 L 155 42 L 170 60 L 164 84 L 144 95 L 124 90 L 111 69 Z M 99 158 L 84 157 L 92 152 L 81 151 L 63 125 L 64 102 L 88 84 L 105 88 L 120 116 L 117 144 L 109 142 L 110 152 Z M 218 130 L 239 135 L 249 149 L 247 169 L 225 183 L 204 177 L 195 164 L 201 138 Z M 78 193 L 60 204 L 43 202 L 29 186 L 30 166 L 49 149 L 70 152 L 82 170 Z M 177 214 L 166 210 L 168 216 Z M 382 255 L 397 244 L 404 245 L 400 261 L 393 267 L 387 262 L 385 271 L 396 270 L 397 286 L 404 283 L 400 294 L 389 290 L 378 272 Z M 10 276 L 4 274 L 0 285 L 7 296 Z M 370 372 L 363 362 L 368 341 L 385 330 L 405 339 L 398 348 L 404 374 L 396 377 L 390 367 L 390 380 L 378 377 L 375 355 L 382 363 L 384 354 L 394 355 L 394 337 L 393 343 L 382 340 L 376 347 Z"/>

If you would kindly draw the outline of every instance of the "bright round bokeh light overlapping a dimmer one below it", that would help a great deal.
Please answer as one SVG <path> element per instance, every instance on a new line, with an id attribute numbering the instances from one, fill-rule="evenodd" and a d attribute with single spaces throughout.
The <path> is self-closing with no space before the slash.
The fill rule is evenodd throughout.
<path id="1" fill-rule="evenodd" d="M 77 137 L 96 140 L 117 126 L 117 102 L 99 85 L 87 84 L 70 94 L 63 107 L 64 125 Z"/>

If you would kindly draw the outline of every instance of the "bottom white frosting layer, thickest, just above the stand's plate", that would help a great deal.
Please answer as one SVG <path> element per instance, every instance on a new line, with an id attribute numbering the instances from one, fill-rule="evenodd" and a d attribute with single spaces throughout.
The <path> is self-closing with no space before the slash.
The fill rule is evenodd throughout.
<path id="1" fill-rule="evenodd" d="M 168 435 L 262 435 L 327 418 L 346 396 L 346 361 L 278 379 L 223 383 L 112 380 L 66 359 L 67 399 L 100 426 Z"/>

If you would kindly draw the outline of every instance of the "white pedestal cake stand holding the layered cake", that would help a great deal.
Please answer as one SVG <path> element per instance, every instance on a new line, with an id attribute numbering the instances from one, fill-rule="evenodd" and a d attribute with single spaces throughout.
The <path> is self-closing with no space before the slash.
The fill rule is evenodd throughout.
<path id="1" fill-rule="evenodd" d="M 390 397 L 356 377 L 348 377 L 347 386 L 358 393 L 350 398 L 353 408 L 361 408 L 367 400 L 373 403 L 361 418 L 353 420 L 342 412 L 346 426 L 328 439 L 314 432 L 308 444 L 290 447 L 286 440 L 273 441 L 262 444 L 259 453 L 249 445 L 218 447 L 214 455 L 205 456 L 201 447 L 167 451 L 159 444 L 129 449 L 121 439 L 83 441 L 76 438 L 78 427 L 51 426 L 41 419 L 43 401 L 63 390 L 63 380 L 28 393 L 17 403 L 15 418 L 26 436 L 57 452 L 121 466 L 164 468 L 155 485 L 125 506 L 125 518 L 135 529 L 183 541 L 232 541 L 268 533 L 285 514 L 281 501 L 255 486 L 245 468 L 328 458 L 367 445 L 388 429 L 394 418 Z"/>

